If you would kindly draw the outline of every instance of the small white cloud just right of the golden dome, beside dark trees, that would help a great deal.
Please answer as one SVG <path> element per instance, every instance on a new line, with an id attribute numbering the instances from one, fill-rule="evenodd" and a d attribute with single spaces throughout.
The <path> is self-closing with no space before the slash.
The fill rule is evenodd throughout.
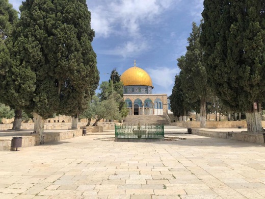
<path id="1" fill-rule="evenodd" d="M 178 72 L 177 67 L 169 68 L 169 67 L 155 67 L 155 68 L 147 68 L 146 71 L 150 75 L 153 84 L 161 86 L 168 91 L 171 89 L 175 83 L 175 76 Z"/>

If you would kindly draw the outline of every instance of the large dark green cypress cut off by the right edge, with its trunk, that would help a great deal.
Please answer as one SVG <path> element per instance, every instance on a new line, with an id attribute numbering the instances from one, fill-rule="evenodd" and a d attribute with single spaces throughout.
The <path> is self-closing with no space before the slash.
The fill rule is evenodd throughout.
<path id="1" fill-rule="evenodd" d="M 232 110 L 246 111 L 248 131 L 263 131 L 265 1 L 205 0 L 201 44 L 209 84 Z"/>

